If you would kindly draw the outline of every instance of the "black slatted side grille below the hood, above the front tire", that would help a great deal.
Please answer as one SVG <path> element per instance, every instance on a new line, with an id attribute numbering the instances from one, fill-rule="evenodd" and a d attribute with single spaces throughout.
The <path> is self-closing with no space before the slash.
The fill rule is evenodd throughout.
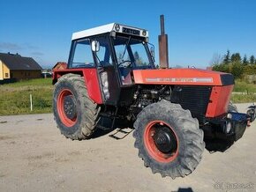
<path id="1" fill-rule="evenodd" d="M 192 117 L 203 122 L 211 91 L 210 86 L 175 86 L 171 93 L 171 102 L 189 109 Z"/>

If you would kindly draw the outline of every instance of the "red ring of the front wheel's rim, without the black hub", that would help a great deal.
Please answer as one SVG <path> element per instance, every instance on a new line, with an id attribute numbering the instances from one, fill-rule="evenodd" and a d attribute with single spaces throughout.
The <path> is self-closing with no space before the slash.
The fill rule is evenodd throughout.
<path id="1" fill-rule="evenodd" d="M 155 139 L 154 139 L 154 134 L 156 129 L 159 129 L 157 127 L 159 126 L 164 126 L 169 128 L 169 130 L 172 132 L 174 138 L 175 138 L 175 143 L 176 148 L 175 151 L 171 152 L 162 152 L 159 150 L 157 144 L 155 144 Z M 178 154 L 178 139 L 175 131 L 169 126 L 169 124 L 162 122 L 162 121 L 154 121 L 154 122 L 149 122 L 146 126 L 145 132 L 144 132 L 144 142 L 146 149 L 150 156 L 157 160 L 158 162 L 162 163 L 169 163 L 173 161 L 174 159 L 177 158 Z"/>

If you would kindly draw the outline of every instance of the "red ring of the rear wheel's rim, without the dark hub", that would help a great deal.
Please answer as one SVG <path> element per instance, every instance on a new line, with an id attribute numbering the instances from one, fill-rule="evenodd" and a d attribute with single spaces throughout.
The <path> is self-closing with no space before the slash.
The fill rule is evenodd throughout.
<path id="1" fill-rule="evenodd" d="M 57 97 L 57 112 L 61 122 L 64 123 L 64 126 L 72 127 L 77 122 L 77 115 L 75 115 L 73 118 L 69 118 L 66 115 L 65 110 L 67 110 L 67 108 L 65 108 L 65 98 L 67 96 L 73 97 L 72 92 L 68 89 L 64 89 L 59 93 Z"/>

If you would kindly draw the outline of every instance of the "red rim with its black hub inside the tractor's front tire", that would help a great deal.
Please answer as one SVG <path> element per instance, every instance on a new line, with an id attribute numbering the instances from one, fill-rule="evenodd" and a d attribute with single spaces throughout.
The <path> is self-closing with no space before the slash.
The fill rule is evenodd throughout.
<path id="1" fill-rule="evenodd" d="M 169 124 L 162 121 L 149 122 L 144 132 L 148 153 L 155 160 L 169 163 L 177 158 L 178 139 Z"/>

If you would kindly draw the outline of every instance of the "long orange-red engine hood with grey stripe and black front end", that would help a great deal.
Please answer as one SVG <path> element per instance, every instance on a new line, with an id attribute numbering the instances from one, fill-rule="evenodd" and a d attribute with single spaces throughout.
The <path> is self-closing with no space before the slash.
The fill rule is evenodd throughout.
<path id="1" fill-rule="evenodd" d="M 145 85 L 234 85 L 229 73 L 198 69 L 133 70 L 135 84 Z"/>

